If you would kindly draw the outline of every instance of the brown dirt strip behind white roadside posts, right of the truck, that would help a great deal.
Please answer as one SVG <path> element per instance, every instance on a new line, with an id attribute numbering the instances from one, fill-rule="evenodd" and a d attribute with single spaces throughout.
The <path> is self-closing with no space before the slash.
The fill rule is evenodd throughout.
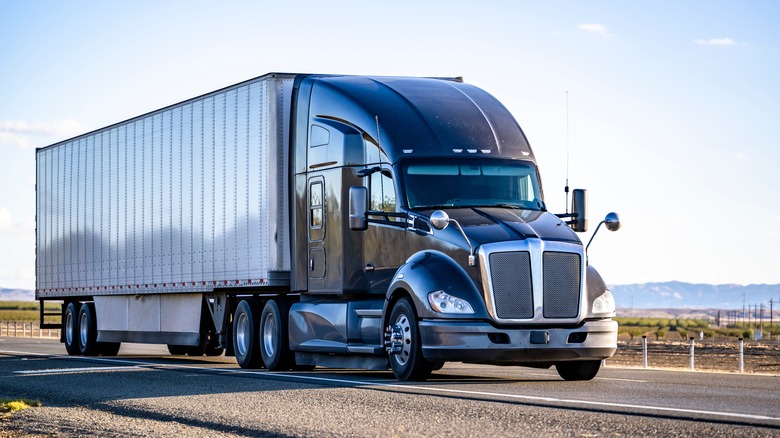
<path id="1" fill-rule="evenodd" d="M 780 375 L 780 343 L 745 341 L 746 373 Z M 684 368 L 690 365 L 689 341 L 647 340 L 647 364 L 651 368 Z M 642 366 L 642 339 L 618 340 L 618 351 L 607 366 Z M 697 370 L 739 372 L 738 341 L 695 341 L 694 368 Z"/>

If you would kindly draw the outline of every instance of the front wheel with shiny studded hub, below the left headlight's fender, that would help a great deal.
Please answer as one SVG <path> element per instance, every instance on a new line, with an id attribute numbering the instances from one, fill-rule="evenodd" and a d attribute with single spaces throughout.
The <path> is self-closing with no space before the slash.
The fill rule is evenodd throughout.
<path id="1" fill-rule="evenodd" d="M 401 298 L 390 313 L 390 329 L 394 341 L 400 342 L 400 351 L 390 353 L 390 367 L 398 380 L 425 380 L 434 365 L 422 355 L 417 314 L 409 298 Z"/>

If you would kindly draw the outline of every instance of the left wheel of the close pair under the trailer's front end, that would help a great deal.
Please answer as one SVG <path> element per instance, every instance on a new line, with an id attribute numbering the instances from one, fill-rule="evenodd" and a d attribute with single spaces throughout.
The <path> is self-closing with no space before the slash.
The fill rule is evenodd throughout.
<path id="1" fill-rule="evenodd" d="M 241 300 L 233 315 L 233 352 L 241 368 L 262 368 L 260 310 L 255 300 Z"/>

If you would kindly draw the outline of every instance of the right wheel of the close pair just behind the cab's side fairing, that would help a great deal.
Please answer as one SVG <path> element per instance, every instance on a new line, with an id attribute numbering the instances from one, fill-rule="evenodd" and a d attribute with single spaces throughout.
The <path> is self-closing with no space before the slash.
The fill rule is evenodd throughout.
<path id="1" fill-rule="evenodd" d="M 268 300 L 260 317 L 260 353 L 265 367 L 286 371 L 295 364 L 287 332 L 289 306 L 283 298 Z"/>

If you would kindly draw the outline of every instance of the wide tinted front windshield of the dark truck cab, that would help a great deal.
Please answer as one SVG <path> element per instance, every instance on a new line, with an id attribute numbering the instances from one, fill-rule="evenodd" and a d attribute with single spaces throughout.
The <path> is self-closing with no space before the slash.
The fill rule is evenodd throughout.
<path id="1" fill-rule="evenodd" d="M 507 207 L 544 210 L 536 166 L 528 161 L 448 158 L 401 163 L 407 205 L 425 210 Z"/>

